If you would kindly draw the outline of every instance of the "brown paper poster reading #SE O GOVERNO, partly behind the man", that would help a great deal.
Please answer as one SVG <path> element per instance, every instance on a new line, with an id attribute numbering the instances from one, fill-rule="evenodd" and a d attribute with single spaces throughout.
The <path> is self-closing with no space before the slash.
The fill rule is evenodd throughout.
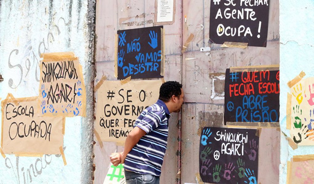
<path id="1" fill-rule="evenodd" d="M 140 113 L 159 97 L 161 80 L 100 81 L 95 130 L 101 141 L 124 143 Z"/>

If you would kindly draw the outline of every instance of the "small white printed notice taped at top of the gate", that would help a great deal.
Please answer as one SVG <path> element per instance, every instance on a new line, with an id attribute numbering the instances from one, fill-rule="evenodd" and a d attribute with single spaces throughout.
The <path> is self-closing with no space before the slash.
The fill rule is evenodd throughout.
<path id="1" fill-rule="evenodd" d="M 157 22 L 173 20 L 173 0 L 158 0 Z"/>

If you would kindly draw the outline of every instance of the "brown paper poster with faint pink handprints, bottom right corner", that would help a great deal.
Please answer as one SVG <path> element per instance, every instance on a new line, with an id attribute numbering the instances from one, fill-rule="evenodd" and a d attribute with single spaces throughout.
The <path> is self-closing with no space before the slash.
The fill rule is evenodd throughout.
<path id="1" fill-rule="evenodd" d="M 314 183 L 314 160 L 306 160 L 307 156 L 302 155 L 303 161 L 295 161 L 295 157 L 291 159 L 290 165 L 287 167 L 287 183 Z"/>

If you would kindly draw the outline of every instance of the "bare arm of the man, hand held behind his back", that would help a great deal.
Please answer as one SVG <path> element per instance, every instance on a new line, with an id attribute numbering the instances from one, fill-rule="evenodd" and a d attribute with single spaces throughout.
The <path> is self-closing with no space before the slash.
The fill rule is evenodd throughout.
<path id="1" fill-rule="evenodd" d="M 133 130 L 127 135 L 127 139 L 124 144 L 124 151 L 120 153 L 113 153 L 110 156 L 110 161 L 114 166 L 123 164 L 125 157 L 132 150 L 132 148 L 138 143 L 138 141 L 146 135 L 146 132 L 137 126 L 133 128 Z"/>

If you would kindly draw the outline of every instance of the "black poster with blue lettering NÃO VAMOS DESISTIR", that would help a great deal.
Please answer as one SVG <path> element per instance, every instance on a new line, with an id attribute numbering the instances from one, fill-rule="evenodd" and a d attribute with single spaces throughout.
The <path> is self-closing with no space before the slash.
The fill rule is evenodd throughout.
<path id="1" fill-rule="evenodd" d="M 160 78 L 163 26 L 117 31 L 118 79 Z"/>

